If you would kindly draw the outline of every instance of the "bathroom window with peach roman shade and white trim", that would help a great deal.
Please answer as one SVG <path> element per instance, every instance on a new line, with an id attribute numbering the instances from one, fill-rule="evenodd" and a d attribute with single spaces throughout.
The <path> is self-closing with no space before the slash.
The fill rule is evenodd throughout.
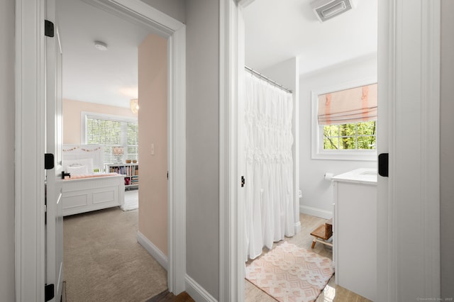
<path id="1" fill-rule="evenodd" d="M 376 160 L 377 84 L 325 91 L 312 93 L 312 158 Z"/>

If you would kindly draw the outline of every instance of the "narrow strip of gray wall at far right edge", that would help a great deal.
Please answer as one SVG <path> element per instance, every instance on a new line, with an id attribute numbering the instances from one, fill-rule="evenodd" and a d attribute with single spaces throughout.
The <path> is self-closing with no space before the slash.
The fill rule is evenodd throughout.
<path id="1" fill-rule="evenodd" d="M 441 1 L 441 296 L 454 297 L 454 1 Z"/>

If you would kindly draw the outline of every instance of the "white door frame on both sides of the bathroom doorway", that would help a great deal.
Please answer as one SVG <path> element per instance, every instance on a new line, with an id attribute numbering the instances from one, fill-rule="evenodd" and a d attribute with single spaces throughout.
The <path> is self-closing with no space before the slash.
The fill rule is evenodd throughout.
<path id="1" fill-rule="evenodd" d="M 238 52 L 241 51 L 238 47 L 238 10 L 240 6 L 245 7 L 253 1 L 220 0 L 219 301 L 244 301 L 244 263 L 241 263 L 243 228 L 239 227 L 242 213 L 236 203 L 239 181 L 236 167 L 238 117 L 235 110 L 240 78 Z M 385 133 L 382 135 L 379 152 L 389 152 L 390 156 L 390 177 L 379 177 L 378 180 L 378 301 L 404 301 L 408 300 L 412 293 L 421 294 L 419 298 L 439 297 L 440 0 L 378 2 L 379 102 L 381 118 L 384 118 L 380 131 Z M 411 6 L 412 4 L 414 6 Z M 406 40 L 409 34 L 413 35 L 411 38 L 416 37 L 416 40 Z M 406 56 L 413 52 L 412 46 L 416 47 L 419 60 L 405 61 Z M 404 211 L 400 205 L 402 201 L 397 200 L 399 194 L 404 194 L 402 189 L 399 189 L 400 186 L 408 184 L 409 181 L 409 177 L 399 174 L 399 171 L 405 171 L 408 167 L 406 165 L 409 165 L 408 162 L 399 162 L 408 155 L 409 150 L 397 143 L 404 135 L 400 128 L 404 122 L 411 122 L 409 116 L 399 107 L 411 104 L 408 97 L 402 96 L 414 87 L 400 86 L 409 74 L 416 74 L 422 87 L 419 96 L 421 106 L 412 108 L 414 116 L 420 118 L 419 125 L 423 129 L 416 135 L 418 150 L 421 151 L 421 156 L 416 157 L 416 163 L 421 165 L 421 168 L 416 169 L 416 183 L 421 186 L 421 196 L 416 201 L 407 201 L 414 202 L 418 211 L 413 213 Z M 408 233 L 397 234 L 396 230 L 404 227 L 406 220 L 416 221 L 421 232 L 406 230 Z M 406 252 L 410 250 L 411 244 L 406 244 L 407 234 L 411 234 L 411 240 L 419 242 L 419 248 L 422 250 L 419 252 L 421 262 L 412 265 L 402 258 L 397 261 L 402 248 Z M 401 247 L 401 250 L 398 247 Z M 424 273 L 416 280 L 406 276 L 406 272 L 414 272 L 414 267 Z"/>

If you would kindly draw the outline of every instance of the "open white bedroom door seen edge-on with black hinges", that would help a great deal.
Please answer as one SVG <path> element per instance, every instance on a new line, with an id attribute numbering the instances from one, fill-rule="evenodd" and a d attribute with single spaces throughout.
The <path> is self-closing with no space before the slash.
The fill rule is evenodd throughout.
<path id="1" fill-rule="evenodd" d="M 62 50 L 55 23 L 55 0 L 48 0 L 46 9 L 46 19 L 54 23 L 54 36 L 45 38 L 45 147 L 46 153 L 54 155 L 54 167 L 46 170 L 45 283 L 54 284 L 54 298 L 48 301 L 60 301 L 63 281 Z M 48 289 L 52 291 L 52 287 Z"/>

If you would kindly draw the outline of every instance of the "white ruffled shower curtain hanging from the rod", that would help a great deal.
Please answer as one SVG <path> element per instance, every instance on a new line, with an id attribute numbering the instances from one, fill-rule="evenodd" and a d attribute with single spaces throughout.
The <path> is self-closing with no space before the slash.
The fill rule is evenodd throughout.
<path id="1" fill-rule="evenodd" d="M 292 111 L 292 94 L 245 72 L 245 232 L 250 259 L 284 235 L 294 235 Z"/>

